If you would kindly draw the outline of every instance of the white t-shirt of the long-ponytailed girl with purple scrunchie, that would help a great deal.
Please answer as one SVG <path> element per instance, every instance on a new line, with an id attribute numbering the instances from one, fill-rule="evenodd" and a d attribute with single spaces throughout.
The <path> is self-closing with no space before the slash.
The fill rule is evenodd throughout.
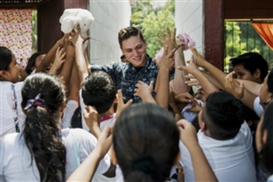
<path id="1" fill-rule="evenodd" d="M 0 181 L 40 181 L 40 175 L 35 160 L 31 163 L 31 154 L 25 145 L 23 136 L 19 133 L 8 134 L 1 143 Z M 93 151 L 97 139 L 82 129 L 61 130 L 63 144 L 66 147 L 66 178 L 77 168 L 76 160 L 83 162 Z M 74 141 L 74 142 L 73 142 Z M 75 142 L 76 141 L 76 142 Z M 78 146 L 78 154 L 75 146 Z M 108 154 L 100 161 L 93 177 L 104 174 L 111 165 Z M 4 180 L 3 180 L 4 181 Z"/>

